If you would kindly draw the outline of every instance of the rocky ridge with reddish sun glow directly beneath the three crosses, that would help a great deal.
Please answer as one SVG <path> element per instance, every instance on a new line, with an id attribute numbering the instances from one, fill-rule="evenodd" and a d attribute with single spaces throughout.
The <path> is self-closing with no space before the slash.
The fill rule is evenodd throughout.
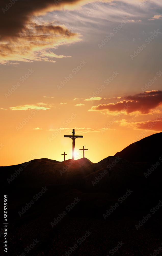
<path id="1" fill-rule="evenodd" d="M 115 165 L 115 166 L 114 166 Z M 47 158 L 34 159 L 20 165 L 0 167 L 3 187 L 30 187 L 72 185 L 89 192 L 108 192 L 127 186 L 132 180 L 144 177 L 147 164 L 131 163 L 125 159 L 109 156 L 98 163 L 87 158 L 57 162 Z M 21 171 L 20 171 L 21 170 Z M 92 181 L 100 175 L 104 177 L 95 187 Z M 17 172 L 17 173 L 16 173 Z M 111 183 L 111 185 L 110 185 Z"/>

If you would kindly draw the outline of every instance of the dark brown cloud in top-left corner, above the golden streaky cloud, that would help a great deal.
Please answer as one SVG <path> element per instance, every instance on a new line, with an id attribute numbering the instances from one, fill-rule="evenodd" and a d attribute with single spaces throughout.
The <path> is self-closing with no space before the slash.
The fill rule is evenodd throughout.
<path id="1" fill-rule="evenodd" d="M 14 4 L 11 4 L 14 3 Z M 11 0 L 11 2 L 1 0 L 0 15 L 0 38 L 8 39 L 8 37 L 17 37 L 19 33 L 30 22 L 32 16 L 38 16 L 54 10 L 62 10 L 63 8 L 71 9 L 75 4 L 86 4 L 84 0 Z M 87 1 L 87 2 L 92 2 Z M 11 7 L 7 7 L 9 6 Z M 9 8 L 9 9 L 8 9 Z M 6 10 L 8 9 L 8 10 Z"/>

